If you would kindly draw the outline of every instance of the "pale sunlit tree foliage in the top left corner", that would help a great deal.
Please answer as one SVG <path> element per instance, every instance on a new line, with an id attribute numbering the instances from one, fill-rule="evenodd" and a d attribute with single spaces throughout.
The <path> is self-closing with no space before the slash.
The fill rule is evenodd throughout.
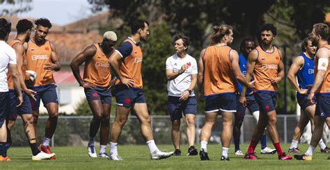
<path id="1" fill-rule="evenodd" d="M 0 15 L 16 15 L 31 10 L 32 0 L 0 0 Z"/>

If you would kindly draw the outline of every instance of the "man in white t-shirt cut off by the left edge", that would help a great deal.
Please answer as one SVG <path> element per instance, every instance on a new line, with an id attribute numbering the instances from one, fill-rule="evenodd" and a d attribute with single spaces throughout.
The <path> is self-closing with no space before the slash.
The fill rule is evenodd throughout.
<path id="1" fill-rule="evenodd" d="M 6 41 L 10 33 L 11 24 L 6 19 L 0 18 L 0 162 L 10 161 L 6 154 L 7 128 L 6 114 L 10 112 L 10 98 L 8 92 L 7 74 L 8 67 L 13 77 L 15 91 L 17 93 L 17 107 L 22 105 L 22 92 L 17 76 L 16 53 Z"/>

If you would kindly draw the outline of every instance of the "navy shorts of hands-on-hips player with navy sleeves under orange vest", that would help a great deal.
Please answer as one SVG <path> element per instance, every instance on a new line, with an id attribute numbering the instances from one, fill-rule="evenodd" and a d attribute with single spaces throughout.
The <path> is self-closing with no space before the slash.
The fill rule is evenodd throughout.
<path id="1" fill-rule="evenodd" d="M 117 105 L 130 107 L 134 103 L 146 103 L 142 89 L 125 85 L 116 85 L 113 87 L 112 94 L 116 96 Z"/>

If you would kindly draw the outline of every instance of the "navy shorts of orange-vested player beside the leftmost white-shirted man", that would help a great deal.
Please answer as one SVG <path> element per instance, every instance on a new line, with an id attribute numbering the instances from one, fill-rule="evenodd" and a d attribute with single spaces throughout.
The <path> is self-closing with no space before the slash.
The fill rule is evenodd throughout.
<path id="1" fill-rule="evenodd" d="M 23 103 L 18 108 L 16 107 L 17 96 L 15 91 L 10 90 L 9 96 L 10 96 L 10 114 L 8 115 L 7 119 L 15 121 L 17 118 L 17 114 L 19 115 L 32 114 L 32 108 L 31 108 L 29 96 L 27 96 L 24 92 L 22 92 Z"/>

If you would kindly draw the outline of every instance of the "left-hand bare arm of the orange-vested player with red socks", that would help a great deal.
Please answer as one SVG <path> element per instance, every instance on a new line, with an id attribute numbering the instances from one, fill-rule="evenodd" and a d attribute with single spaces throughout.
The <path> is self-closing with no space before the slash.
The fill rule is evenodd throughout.
<path id="1" fill-rule="evenodd" d="M 254 66 L 256 65 L 256 60 L 258 58 L 258 51 L 254 49 L 249 53 L 249 57 L 246 63 L 246 80 L 251 80 L 253 76 L 253 71 L 254 71 Z M 243 86 L 242 93 L 240 94 L 239 97 L 239 103 L 242 105 L 246 105 L 246 98 L 245 98 L 245 93 L 246 93 L 246 86 Z"/>

